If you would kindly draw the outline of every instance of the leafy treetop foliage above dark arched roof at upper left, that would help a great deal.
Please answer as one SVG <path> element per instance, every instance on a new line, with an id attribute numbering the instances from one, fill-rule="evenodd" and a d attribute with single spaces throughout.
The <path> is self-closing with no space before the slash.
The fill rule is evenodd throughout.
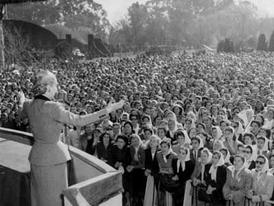
<path id="1" fill-rule="evenodd" d="M 110 23 L 102 5 L 94 1 L 48 0 L 40 3 L 8 5 L 10 19 L 29 21 L 38 25 L 64 25 L 77 32 L 87 27 L 91 33 L 106 38 Z M 58 28 L 57 28 L 58 29 Z"/>

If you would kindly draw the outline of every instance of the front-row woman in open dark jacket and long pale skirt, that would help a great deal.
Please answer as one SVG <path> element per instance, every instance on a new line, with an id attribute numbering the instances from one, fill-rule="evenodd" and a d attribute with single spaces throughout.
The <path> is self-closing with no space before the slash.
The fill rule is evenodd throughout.
<path id="1" fill-rule="evenodd" d="M 149 147 L 145 150 L 145 175 L 147 176 L 147 186 L 145 190 L 144 206 L 155 206 L 158 197 L 159 183 L 159 164 L 156 158 L 157 152 L 160 150 L 161 139 L 152 135 L 149 141 Z"/>

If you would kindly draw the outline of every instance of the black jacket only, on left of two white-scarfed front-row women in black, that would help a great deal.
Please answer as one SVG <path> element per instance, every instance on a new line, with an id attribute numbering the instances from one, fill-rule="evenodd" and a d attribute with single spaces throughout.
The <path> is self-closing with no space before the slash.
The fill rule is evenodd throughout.
<path id="1" fill-rule="evenodd" d="M 181 163 L 179 164 L 179 172 L 178 172 L 178 168 L 177 168 L 177 159 L 173 159 L 172 160 L 172 168 L 173 168 L 173 172 L 174 175 L 177 174 L 177 176 L 179 177 L 179 183 L 184 184 L 186 181 L 188 181 L 191 178 L 191 174 L 194 171 L 195 168 L 195 163 L 193 161 L 186 161 L 186 169 L 182 170 L 182 165 Z"/>

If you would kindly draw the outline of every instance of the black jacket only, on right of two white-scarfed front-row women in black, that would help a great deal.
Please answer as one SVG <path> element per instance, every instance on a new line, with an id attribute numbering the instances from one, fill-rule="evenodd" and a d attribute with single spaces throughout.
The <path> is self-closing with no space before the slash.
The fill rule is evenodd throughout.
<path id="1" fill-rule="evenodd" d="M 211 163 L 205 166 L 204 180 L 206 181 L 206 185 L 211 185 L 211 187 L 215 187 L 216 190 L 214 194 L 218 194 L 219 198 L 223 198 L 223 185 L 225 185 L 225 181 L 227 178 L 227 167 L 225 165 L 221 165 L 217 168 L 216 181 L 211 179 L 210 167 Z"/>

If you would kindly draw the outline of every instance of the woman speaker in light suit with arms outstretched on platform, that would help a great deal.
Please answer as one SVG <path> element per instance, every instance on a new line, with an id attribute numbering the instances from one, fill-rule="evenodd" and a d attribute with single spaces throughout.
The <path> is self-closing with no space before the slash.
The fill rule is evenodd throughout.
<path id="1" fill-rule="evenodd" d="M 61 206 L 62 190 L 68 187 L 66 163 L 71 159 L 68 148 L 60 141 L 63 124 L 85 126 L 108 116 L 124 104 L 121 100 L 96 113 L 79 116 L 53 102 L 58 91 L 58 82 L 50 71 L 40 71 L 34 100 L 25 100 L 19 94 L 19 113 L 27 117 L 34 135 L 34 145 L 29 153 L 31 164 L 32 206 Z"/>

